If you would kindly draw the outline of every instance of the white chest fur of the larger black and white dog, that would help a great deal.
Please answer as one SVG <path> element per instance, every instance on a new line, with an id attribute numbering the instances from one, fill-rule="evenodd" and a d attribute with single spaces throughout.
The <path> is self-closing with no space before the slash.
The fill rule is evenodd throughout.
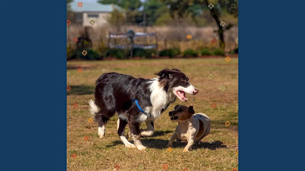
<path id="1" fill-rule="evenodd" d="M 155 120 L 156 118 L 160 117 L 161 110 L 167 108 L 167 105 L 173 102 L 176 96 L 174 95 L 172 90 L 168 90 L 167 93 L 163 87 L 159 87 L 158 78 L 153 78 L 148 83 L 150 83 L 150 102 L 152 106 L 146 107 L 144 111 L 152 117 L 152 120 Z M 147 119 L 147 116 L 142 115 L 140 116 L 139 120 L 141 122 L 144 122 Z"/>

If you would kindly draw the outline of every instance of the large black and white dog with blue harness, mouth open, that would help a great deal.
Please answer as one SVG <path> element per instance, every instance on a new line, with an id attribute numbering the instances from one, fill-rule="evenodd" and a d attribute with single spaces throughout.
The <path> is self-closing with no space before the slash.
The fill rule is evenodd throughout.
<path id="1" fill-rule="evenodd" d="M 153 134 L 153 121 L 160 117 L 176 97 L 187 101 L 185 93 L 198 93 L 188 82 L 188 77 L 177 68 L 165 68 L 155 75 L 158 77 L 145 79 L 112 72 L 102 74 L 95 81 L 95 101 L 90 100 L 89 105 L 94 120 L 99 123 L 100 138 L 104 138 L 106 122 L 117 112 L 117 133 L 124 145 L 127 148 L 146 149 L 140 137 Z M 143 122 L 146 122 L 147 129 L 140 131 L 139 125 Z M 134 144 L 128 142 L 124 136 L 127 123 Z"/>

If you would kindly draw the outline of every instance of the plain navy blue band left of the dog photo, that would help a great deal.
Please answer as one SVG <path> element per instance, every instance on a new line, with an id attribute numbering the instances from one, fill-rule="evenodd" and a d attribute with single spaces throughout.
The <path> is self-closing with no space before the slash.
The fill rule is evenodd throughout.
<path id="1" fill-rule="evenodd" d="M 66 0 L 3 1 L 1 170 L 66 170 Z"/>

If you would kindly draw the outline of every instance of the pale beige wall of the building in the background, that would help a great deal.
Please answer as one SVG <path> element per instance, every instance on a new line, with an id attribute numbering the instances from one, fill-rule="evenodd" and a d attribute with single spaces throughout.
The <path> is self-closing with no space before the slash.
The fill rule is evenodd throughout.
<path id="1" fill-rule="evenodd" d="M 107 24 L 107 17 L 109 13 L 105 12 L 84 12 L 83 13 L 83 26 L 98 27 Z M 93 20 L 94 24 L 91 25 L 90 21 Z"/>

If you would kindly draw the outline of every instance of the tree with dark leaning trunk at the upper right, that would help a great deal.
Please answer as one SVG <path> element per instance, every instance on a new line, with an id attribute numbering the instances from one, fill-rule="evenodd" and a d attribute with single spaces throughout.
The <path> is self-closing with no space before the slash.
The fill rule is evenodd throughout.
<path id="1" fill-rule="evenodd" d="M 220 47 L 224 48 L 224 31 L 230 29 L 234 26 L 234 23 L 225 22 L 226 27 L 221 26 L 221 17 L 229 14 L 233 17 L 238 17 L 238 9 L 231 8 L 231 4 L 238 5 L 238 0 L 162 0 L 170 5 L 170 14 L 174 18 L 174 13 L 177 12 L 179 18 L 183 18 L 185 14 L 192 14 L 192 17 L 195 19 L 198 9 L 195 7 L 200 5 L 202 10 L 210 11 L 213 19 L 217 23 L 218 30 L 217 32 L 220 40 Z M 213 8 L 210 9 L 209 5 L 213 4 Z M 212 6 L 210 6 L 212 7 Z"/>

